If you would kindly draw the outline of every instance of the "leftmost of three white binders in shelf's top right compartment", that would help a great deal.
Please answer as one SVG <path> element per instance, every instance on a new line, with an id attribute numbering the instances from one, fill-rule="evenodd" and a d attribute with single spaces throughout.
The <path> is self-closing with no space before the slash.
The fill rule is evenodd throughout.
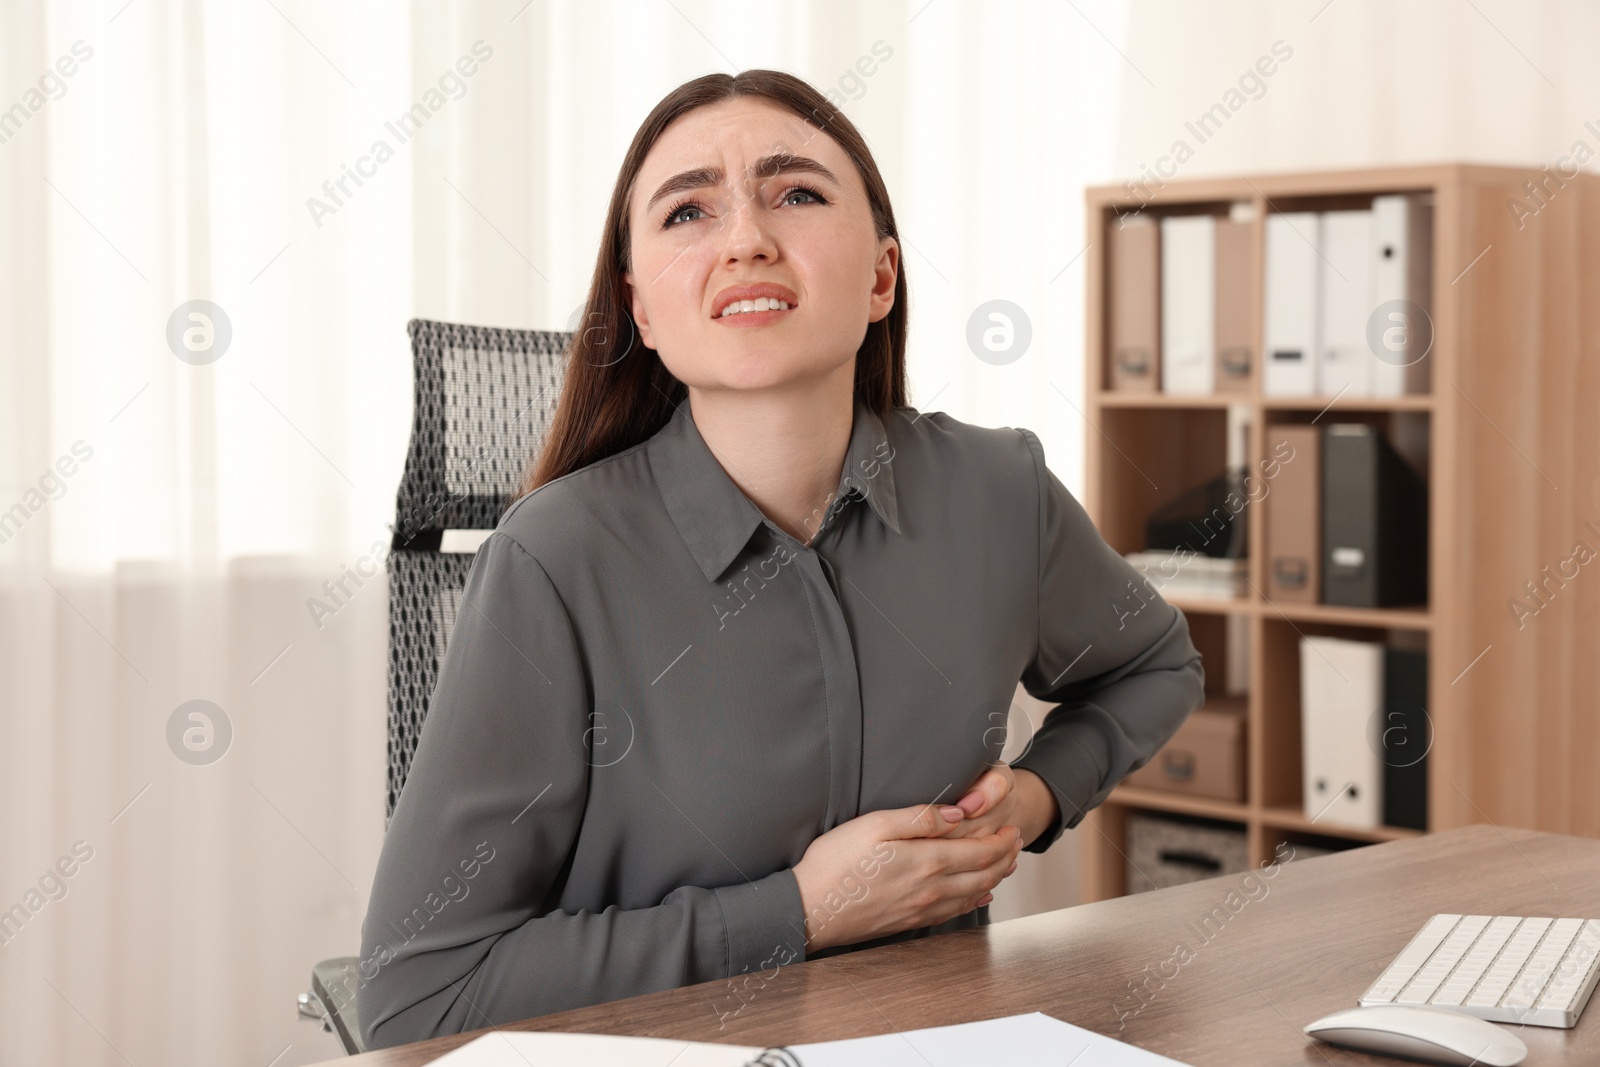
<path id="1" fill-rule="evenodd" d="M 1261 390 L 1270 397 L 1307 397 L 1317 392 L 1320 243 L 1322 219 L 1315 211 L 1267 216 Z"/>

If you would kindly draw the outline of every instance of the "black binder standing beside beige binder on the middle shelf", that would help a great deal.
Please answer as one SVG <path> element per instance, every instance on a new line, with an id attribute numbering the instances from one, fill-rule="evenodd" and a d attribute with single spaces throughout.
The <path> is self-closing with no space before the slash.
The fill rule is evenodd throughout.
<path id="1" fill-rule="evenodd" d="M 1322 435 L 1322 601 L 1427 603 L 1427 485 L 1365 422 Z"/>

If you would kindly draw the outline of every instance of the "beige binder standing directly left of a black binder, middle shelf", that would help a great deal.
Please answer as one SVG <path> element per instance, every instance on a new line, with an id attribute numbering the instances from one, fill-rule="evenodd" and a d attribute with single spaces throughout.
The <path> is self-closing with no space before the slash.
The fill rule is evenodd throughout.
<path id="1" fill-rule="evenodd" d="M 1267 598 L 1320 603 L 1322 429 L 1267 426 L 1267 458 L 1278 464 L 1266 499 Z"/>

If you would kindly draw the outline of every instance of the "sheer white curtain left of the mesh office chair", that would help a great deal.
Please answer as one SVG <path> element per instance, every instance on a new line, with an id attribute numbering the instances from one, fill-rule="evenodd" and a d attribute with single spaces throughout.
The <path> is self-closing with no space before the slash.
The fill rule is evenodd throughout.
<path id="1" fill-rule="evenodd" d="M 0 1062 L 338 1053 L 294 995 L 381 843 L 386 589 L 306 600 L 392 514 L 411 173 L 306 200 L 411 96 L 389 10 L 0 8 Z"/>

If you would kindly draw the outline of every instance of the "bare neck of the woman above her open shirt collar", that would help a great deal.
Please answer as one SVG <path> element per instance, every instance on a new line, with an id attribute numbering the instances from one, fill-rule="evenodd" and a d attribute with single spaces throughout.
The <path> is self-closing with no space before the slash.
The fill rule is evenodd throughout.
<path id="1" fill-rule="evenodd" d="M 856 362 L 781 389 L 690 386 L 710 454 L 779 530 L 810 544 L 838 491 L 854 424 Z"/>

